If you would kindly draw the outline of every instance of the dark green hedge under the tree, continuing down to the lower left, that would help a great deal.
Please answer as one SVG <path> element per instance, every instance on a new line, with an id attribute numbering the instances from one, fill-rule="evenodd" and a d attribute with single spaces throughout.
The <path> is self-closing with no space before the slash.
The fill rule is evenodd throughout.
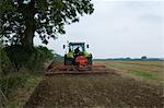
<path id="1" fill-rule="evenodd" d="M 4 73 L 0 74 L 0 97 L 4 94 L 2 103 L 13 91 L 25 85 L 31 76 L 27 72 L 43 71 L 45 62 L 51 60 L 52 57 L 52 51 L 43 46 L 32 49 L 25 49 L 20 45 L 0 47 L 0 73 Z M 21 72 L 15 72 L 15 70 Z"/>

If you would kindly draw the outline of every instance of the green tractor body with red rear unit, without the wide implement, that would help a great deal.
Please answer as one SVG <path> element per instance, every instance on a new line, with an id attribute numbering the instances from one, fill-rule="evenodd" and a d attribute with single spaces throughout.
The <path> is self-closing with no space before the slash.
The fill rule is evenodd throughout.
<path id="1" fill-rule="evenodd" d="M 69 43 L 68 52 L 65 55 L 65 65 L 89 67 L 92 65 L 92 55 L 86 52 L 85 43 Z M 63 45 L 63 49 L 66 46 Z"/>

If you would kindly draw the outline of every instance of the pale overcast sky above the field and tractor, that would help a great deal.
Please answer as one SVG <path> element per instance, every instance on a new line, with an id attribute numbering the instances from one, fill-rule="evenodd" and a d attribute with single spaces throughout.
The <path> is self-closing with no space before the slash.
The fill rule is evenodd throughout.
<path id="1" fill-rule="evenodd" d="M 94 13 L 66 25 L 48 48 L 63 56 L 67 41 L 85 41 L 94 58 L 164 58 L 163 0 L 92 0 Z M 35 45 L 42 45 L 36 37 Z"/>

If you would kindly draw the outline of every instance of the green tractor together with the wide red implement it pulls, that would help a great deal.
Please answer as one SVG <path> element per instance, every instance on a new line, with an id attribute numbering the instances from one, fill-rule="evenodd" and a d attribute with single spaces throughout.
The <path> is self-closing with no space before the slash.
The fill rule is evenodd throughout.
<path id="1" fill-rule="evenodd" d="M 67 49 L 65 53 L 65 64 L 56 64 L 55 60 L 47 67 L 46 75 L 51 74 L 102 74 L 108 73 L 107 71 L 97 70 L 105 68 L 105 65 L 93 65 L 92 55 L 86 52 L 89 45 L 85 43 L 68 43 L 68 46 L 63 45 L 63 49 Z M 94 69 L 94 70 L 93 70 Z"/>

